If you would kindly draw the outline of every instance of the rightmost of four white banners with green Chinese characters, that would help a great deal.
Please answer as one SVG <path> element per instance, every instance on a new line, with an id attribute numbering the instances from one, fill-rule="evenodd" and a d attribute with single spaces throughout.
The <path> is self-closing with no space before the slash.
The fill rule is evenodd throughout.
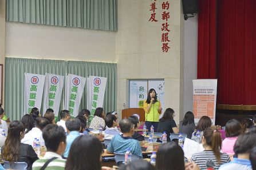
<path id="1" fill-rule="evenodd" d="M 89 76 L 87 81 L 87 108 L 94 115 L 97 107 L 103 107 L 107 78 Z"/>

